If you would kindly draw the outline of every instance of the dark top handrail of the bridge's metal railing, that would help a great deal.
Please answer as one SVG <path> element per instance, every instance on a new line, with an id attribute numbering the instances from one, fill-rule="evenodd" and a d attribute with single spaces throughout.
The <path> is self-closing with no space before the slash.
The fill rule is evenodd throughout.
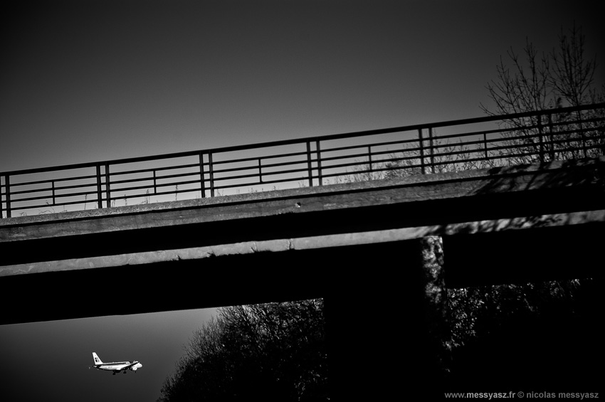
<path id="1" fill-rule="evenodd" d="M 244 145 L 234 145 L 229 147 L 216 147 L 209 149 L 197 149 L 194 151 L 186 151 L 186 152 L 176 152 L 171 154 L 156 154 L 145 157 L 132 157 L 132 158 L 124 158 L 124 159 L 112 159 L 106 161 L 98 161 L 98 162 L 84 162 L 80 164 L 65 164 L 60 166 L 49 166 L 49 167 L 41 167 L 35 169 L 21 169 L 14 171 L 1 171 L 0 176 L 13 176 L 13 175 L 21 175 L 21 174 L 36 174 L 43 173 L 48 171 L 59 171 L 59 170 L 72 170 L 72 169 L 87 169 L 96 166 L 104 166 L 104 165 L 115 165 L 115 164 L 129 164 L 136 162 L 149 162 L 160 159 L 174 159 L 181 157 L 194 157 L 196 155 L 202 154 L 216 154 L 221 152 L 236 152 L 242 151 L 246 149 L 258 149 L 258 148 L 267 148 L 267 147 L 280 147 L 285 145 L 293 145 L 293 144 L 306 144 L 307 142 L 317 142 L 317 141 L 330 141 L 335 139 L 344 139 L 344 138 L 354 138 L 354 137 L 364 137 L 364 136 L 372 136 L 378 134 L 389 134 L 391 132 L 406 132 L 406 131 L 414 131 L 418 129 L 428 129 L 428 128 L 436 128 L 436 127 L 447 127 L 447 126 L 457 126 L 457 125 L 470 125 L 477 124 L 483 122 L 494 122 L 494 121 L 505 121 L 512 120 L 522 117 L 530 117 L 536 115 L 550 115 L 554 113 L 567 113 L 567 112 L 577 112 L 581 110 L 590 110 L 590 109 L 599 109 L 604 108 L 605 102 L 594 103 L 591 105 L 582 105 L 578 107 L 559 107 L 555 109 L 548 110 L 538 110 L 535 112 L 520 112 L 513 113 L 509 115 L 492 115 L 485 117 L 474 117 L 470 119 L 461 119 L 461 120 L 447 120 L 442 122 L 433 122 L 433 123 L 423 123 L 417 125 L 406 125 L 399 127 L 388 127 L 383 129 L 369 129 L 358 132 L 345 132 L 340 134 L 328 134 L 328 135 L 319 135 L 312 137 L 303 137 L 298 139 L 282 139 L 278 141 L 271 142 L 257 142 L 253 144 L 244 144 Z"/>

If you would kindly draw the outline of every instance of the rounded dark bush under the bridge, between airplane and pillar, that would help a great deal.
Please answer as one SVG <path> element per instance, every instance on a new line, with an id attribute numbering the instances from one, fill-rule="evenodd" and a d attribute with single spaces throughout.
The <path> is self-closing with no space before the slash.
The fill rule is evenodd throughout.
<path id="1" fill-rule="evenodd" d="M 327 401 L 323 300 L 221 307 L 158 401 Z"/>

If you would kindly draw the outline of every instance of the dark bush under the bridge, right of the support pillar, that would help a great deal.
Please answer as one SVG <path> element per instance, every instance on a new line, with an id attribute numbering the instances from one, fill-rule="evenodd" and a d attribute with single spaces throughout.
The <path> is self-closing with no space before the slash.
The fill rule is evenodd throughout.
<path id="1" fill-rule="evenodd" d="M 449 290 L 456 391 L 594 389 L 603 356 L 599 279 Z M 499 388 L 498 388 L 499 387 Z M 553 388 L 554 387 L 554 388 Z"/>

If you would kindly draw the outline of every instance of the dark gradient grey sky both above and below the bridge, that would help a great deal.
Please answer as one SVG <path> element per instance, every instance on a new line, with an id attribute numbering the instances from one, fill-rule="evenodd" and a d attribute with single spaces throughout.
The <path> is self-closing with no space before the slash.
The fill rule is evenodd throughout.
<path id="1" fill-rule="evenodd" d="M 9 3 L 0 171 L 478 117 L 500 55 L 574 21 L 604 82 L 592 0 Z M 154 401 L 206 317 L 0 327 L 0 400 Z M 89 371 L 93 351 L 144 366 Z"/>

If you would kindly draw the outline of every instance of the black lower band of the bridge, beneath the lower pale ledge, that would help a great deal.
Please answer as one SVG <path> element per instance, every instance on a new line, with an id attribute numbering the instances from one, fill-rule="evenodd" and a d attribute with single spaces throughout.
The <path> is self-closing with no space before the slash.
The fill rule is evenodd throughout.
<path id="1" fill-rule="evenodd" d="M 602 275 L 601 224 L 444 236 L 448 287 Z M 405 293 L 419 240 L 211 255 L 0 280 L 3 324 Z M 68 246 L 68 245 L 66 245 Z M 36 255 L 41 253 L 36 251 Z M 418 252 L 420 253 L 420 252 Z M 414 258 L 411 257 L 414 256 Z M 33 303 L 32 303 L 33 300 Z"/>

